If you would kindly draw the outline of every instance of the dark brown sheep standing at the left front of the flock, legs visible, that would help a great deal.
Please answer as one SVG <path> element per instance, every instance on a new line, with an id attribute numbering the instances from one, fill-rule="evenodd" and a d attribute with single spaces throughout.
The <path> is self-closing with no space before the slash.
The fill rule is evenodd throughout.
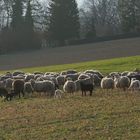
<path id="1" fill-rule="evenodd" d="M 12 88 L 16 95 L 20 98 L 20 93 L 22 93 L 22 96 L 24 97 L 24 80 L 17 79 L 12 83 Z"/>

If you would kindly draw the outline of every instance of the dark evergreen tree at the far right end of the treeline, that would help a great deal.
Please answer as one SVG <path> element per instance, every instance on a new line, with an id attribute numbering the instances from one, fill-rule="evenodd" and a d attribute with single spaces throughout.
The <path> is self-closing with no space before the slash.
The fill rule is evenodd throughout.
<path id="1" fill-rule="evenodd" d="M 119 0 L 119 14 L 124 32 L 137 32 L 140 30 L 140 1 Z"/>

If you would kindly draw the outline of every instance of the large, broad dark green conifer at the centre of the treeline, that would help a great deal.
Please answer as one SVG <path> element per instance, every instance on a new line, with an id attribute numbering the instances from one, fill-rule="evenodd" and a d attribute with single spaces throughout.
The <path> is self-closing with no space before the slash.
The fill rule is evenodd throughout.
<path id="1" fill-rule="evenodd" d="M 79 37 L 79 11 L 75 0 L 51 0 L 49 5 L 48 34 L 64 45 L 66 40 Z"/>

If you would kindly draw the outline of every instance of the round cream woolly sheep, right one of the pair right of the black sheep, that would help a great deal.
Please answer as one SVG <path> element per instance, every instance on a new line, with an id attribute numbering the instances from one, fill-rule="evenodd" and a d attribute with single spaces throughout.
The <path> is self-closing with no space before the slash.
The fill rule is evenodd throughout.
<path id="1" fill-rule="evenodd" d="M 130 79 L 127 76 L 115 77 L 115 88 L 123 89 L 124 91 L 130 86 Z"/>

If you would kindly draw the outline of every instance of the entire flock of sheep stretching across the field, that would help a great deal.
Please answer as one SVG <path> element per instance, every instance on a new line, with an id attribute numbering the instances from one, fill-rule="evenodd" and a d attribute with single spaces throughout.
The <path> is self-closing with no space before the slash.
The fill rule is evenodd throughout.
<path id="1" fill-rule="evenodd" d="M 34 92 L 61 98 L 64 93 L 73 94 L 78 91 L 86 96 L 88 91 L 91 96 L 95 88 L 140 91 L 140 71 L 112 72 L 107 76 L 97 70 L 67 70 L 60 73 L 15 71 L 0 75 L 0 96 L 4 100 Z"/>

